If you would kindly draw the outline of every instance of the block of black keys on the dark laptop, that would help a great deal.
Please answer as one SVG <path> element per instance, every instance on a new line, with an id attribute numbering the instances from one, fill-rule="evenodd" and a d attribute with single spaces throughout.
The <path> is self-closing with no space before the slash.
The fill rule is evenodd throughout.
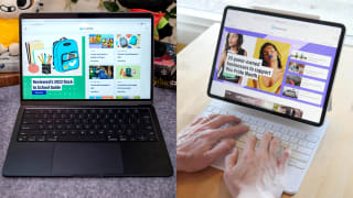
<path id="1" fill-rule="evenodd" d="M 19 142 L 157 141 L 148 108 L 25 109 Z"/>

